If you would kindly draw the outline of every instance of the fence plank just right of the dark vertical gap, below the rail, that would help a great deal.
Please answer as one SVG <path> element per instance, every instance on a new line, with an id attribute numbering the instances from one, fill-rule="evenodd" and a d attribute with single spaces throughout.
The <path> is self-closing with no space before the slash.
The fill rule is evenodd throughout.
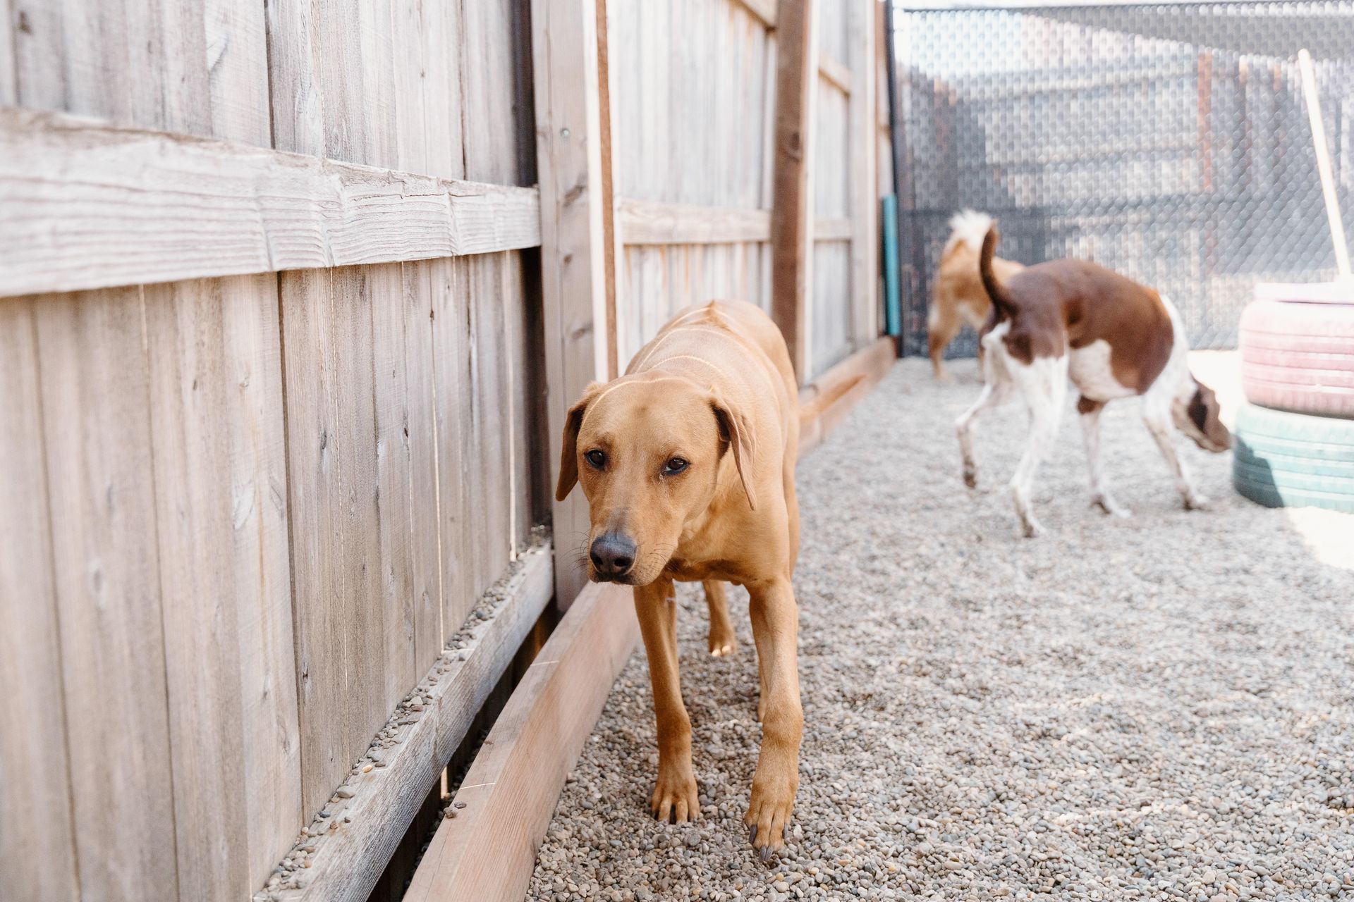
<path id="1" fill-rule="evenodd" d="M 371 303 L 360 269 L 283 273 L 287 471 L 302 814 L 357 760 L 386 705 Z"/>

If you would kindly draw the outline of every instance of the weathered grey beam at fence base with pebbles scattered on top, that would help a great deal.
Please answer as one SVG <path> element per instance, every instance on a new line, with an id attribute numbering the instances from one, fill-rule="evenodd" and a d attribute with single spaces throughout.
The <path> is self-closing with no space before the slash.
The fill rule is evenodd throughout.
<path id="1" fill-rule="evenodd" d="M 276 902 L 362 902 L 399 845 L 428 790 L 466 737 L 517 648 L 554 594 L 550 545 L 525 552 L 493 592 L 486 617 L 471 615 L 410 698 L 291 852 L 294 864 L 256 897 Z M 609 686 L 609 683 L 608 683 Z M 590 723 L 592 721 L 589 721 Z M 378 765 L 379 761 L 379 765 Z M 370 769 L 368 769 L 370 768 Z M 348 794 L 348 798 L 343 798 Z M 305 848 L 313 847 L 307 853 Z"/>

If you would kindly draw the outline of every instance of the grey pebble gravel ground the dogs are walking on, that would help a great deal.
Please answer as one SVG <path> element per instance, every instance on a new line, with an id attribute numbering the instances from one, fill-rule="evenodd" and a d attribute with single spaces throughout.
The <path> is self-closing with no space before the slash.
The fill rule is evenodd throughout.
<path id="1" fill-rule="evenodd" d="M 1070 412 L 1016 537 L 1005 491 L 1018 404 L 976 433 L 960 481 L 953 418 L 971 361 L 937 385 L 902 361 L 799 468 L 804 745 L 791 844 L 770 865 L 742 826 L 760 730 L 746 595 L 741 646 L 705 653 L 682 587 L 682 690 L 701 820 L 647 815 L 657 763 L 636 653 L 578 761 L 532 899 L 1354 898 L 1354 518 L 1231 490 L 1179 510 L 1135 402 L 1104 417 L 1127 521 L 1087 506 Z M 1311 522 L 1311 521 L 1307 521 Z M 1340 560 L 1343 559 L 1343 560 Z"/>

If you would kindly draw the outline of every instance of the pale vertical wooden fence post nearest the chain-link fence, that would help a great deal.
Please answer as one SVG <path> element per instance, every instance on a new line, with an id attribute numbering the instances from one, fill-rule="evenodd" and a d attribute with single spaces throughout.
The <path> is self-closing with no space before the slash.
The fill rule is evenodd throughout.
<path id="1" fill-rule="evenodd" d="M 877 35 L 880 4 L 853 0 L 846 15 L 846 41 L 856 68 L 852 69 L 850 107 L 850 306 L 852 341 L 865 348 L 883 331 L 879 304 L 879 84 Z"/>

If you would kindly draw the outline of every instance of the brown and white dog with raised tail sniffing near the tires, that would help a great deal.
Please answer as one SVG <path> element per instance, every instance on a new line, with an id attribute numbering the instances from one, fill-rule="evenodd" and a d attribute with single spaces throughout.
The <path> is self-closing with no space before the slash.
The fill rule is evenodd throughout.
<path id="1" fill-rule="evenodd" d="M 1011 495 L 1025 536 L 1037 536 L 1030 511 L 1034 472 L 1057 435 L 1068 379 L 1080 394 L 1082 435 L 1091 477 L 1091 503 L 1128 517 L 1109 494 L 1099 460 L 1099 414 L 1116 398 L 1143 398 L 1143 421 L 1175 476 L 1189 510 L 1208 503 L 1175 453 L 1171 423 L 1209 452 L 1231 448 L 1213 391 L 1189 371 L 1189 343 L 1170 299 L 1104 266 L 1053 260 L 997 277 L 997 229 L 987 231 L 979 272 L 992 312 L 983 326 L 983 391 L 955 423 L 964 457 L 964 483 L 976 484 L 974 419 L 1018 391 L 1030 412 L 1030 434 L 1011 477 Z"/>

